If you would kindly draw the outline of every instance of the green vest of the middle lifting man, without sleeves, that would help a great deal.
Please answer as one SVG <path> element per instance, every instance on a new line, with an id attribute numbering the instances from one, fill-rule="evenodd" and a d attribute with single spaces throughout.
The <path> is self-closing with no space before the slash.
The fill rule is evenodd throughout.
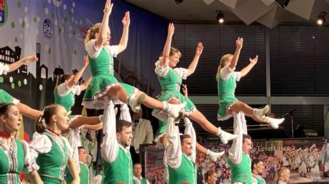
<path id="1" fill-rule="evenodd" d="M 196 165 L 185 154 L 182 154 L 182 163 L 177 169 L 173 169 L 168 165 L 169 183 L 196 184 Z"/>

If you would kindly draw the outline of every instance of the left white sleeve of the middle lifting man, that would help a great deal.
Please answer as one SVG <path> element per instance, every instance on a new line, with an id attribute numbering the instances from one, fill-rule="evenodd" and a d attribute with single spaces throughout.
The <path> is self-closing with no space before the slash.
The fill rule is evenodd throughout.
<path id="1" fill-rule="evenodd" d="M 174 118 L 168 118 L 166 134 L 168 139 L 168 147 L 165 154 L 167 164 L 171 168 L 177 169 L 182 163 L 183 153 L 180 146 L 179 129 L 178 126 L 175 126 Z"/>

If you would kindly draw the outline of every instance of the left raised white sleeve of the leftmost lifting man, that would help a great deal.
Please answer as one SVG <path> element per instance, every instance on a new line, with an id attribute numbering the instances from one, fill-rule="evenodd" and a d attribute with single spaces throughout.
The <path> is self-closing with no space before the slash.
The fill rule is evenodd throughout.
<path id="1" fill-rule="evenodd" d="M 119 154 L 119 143 L 117 142 L 115 104 L 109 102 L 104 109 L 103 141 L 101 142 L 101 156 L 104 160 L 112 163 Z"/>

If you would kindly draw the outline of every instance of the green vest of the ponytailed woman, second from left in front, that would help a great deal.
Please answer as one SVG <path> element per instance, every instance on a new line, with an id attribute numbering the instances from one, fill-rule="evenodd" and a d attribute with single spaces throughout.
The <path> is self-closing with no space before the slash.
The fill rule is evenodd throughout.
<path id="1" fill-rule="evenodd" d="M 53 138 L 51 134 L 48 132 L 43 132 L 42 135 L 46 135 L 51 139 L 53 142 L 53 147 L 51 150 L 46 154 L 39 154 L 37 156 L 37 165 L 40 166 L 40 169 L 37 171 L 42 178 L 42 181 L 51 180 L 53 178 L 57 178 L 55 181 L 63 180 L 65 167 L 67 166 L 67 160 L 69 156 L 67 154 L 67 147 L 65 145 L 65 141 L 62 140 L 62 147 L 60 147 L 59 143 L 57 142 L 56 138 Z"/>

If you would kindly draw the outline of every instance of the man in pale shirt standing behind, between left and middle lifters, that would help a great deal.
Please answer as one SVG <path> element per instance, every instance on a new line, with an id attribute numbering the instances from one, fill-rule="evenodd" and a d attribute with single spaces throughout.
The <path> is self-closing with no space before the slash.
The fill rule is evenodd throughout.
<path id="1" fill-rule="evenodd" d="M 137 154 L 140 154 L 140 145 L 152 144 L 153 129 L 151 122 L 142 118 L 142 109 L 139 113 L 134 113 L 134 129 L 132 146 L 135 147 Z"/>

